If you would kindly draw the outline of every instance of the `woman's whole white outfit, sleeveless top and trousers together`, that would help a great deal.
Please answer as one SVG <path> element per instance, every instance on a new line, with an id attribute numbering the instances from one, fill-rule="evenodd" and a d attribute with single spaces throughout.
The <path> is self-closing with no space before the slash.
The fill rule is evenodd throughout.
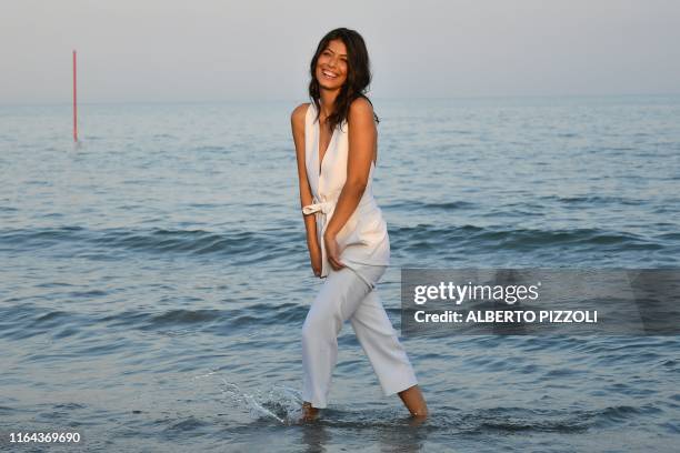
<path id="1" fill-rule="evenodd" d="M 316 114 L 316 105 L 310 103 L 304 121 L 304 155 L 313 202 L 302 211 L 316 215 L 322 254 L 321 276 L 326 281 L 302 326 L 302 399 L 313 407 L 326 407 L 338 358 L 338 334 L 347 320 L 386 396 L 407 390 L 418 381 L 376 291 L 376 284 L 390 263 L 390 242 L 372 193 L 374 163 L 371 163 L 369 180 L 356 211 L 337 235 L 340 261 L 346 268 L 336 271 L 328 262 L 323 233 L 347 179 L 348 123 L 336 128 L 320 162 Z"/>

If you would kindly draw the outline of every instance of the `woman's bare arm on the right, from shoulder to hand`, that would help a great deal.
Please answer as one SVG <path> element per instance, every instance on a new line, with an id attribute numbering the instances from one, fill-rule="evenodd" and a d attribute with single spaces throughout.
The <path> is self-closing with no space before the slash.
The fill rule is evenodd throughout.
<path id="1" fill-rule="evenodd" d="M 342 266 L 342 263 L 338 261 L 340 251 L 337 250 L 336 236 L 352 215 L 363 195 L 371 171 L 378 134 L 373 120 L 373 107 L 363 98 L 352 101 L 347 121 L 349 127 L 347 180 L 323 235 L 328 260 L 333 268 Z"/>

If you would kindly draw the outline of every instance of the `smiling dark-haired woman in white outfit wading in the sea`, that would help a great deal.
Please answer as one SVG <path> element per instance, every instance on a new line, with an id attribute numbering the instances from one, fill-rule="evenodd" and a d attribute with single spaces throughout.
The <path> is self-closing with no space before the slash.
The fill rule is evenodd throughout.
<path id="1" fill-rule="evenodd" d="M 300 201 L 314 275 L 326 281 L 302 328 L 302 417 L 326 407 L 348 319 L 383 393 L 398 393 L 410 413 L 427 404 L 409 359 L 374 290 L 390 258 L 387 224 L 372 195 L 378 139 L 368 51 L 361 36 L 330 31 L 310 64 L 309 95 L 291 115 Z"/>

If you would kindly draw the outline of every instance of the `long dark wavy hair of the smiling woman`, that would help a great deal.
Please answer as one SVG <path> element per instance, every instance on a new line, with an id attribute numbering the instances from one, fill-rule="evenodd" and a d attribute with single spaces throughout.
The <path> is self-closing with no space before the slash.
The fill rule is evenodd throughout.
<path id="1" fill-rule="evenodd" d="M 347 48 L 347 81 L 340 89 L 336 98 L 333 111 L 327 120 L 331 131 L 334 130 L 338 124 L 342 124 L 347 120 L 349 107 L 354 99 L 364 98 L 367 101 L 371 102 L 366 95 L 369 84 L 371 83 L 371 63 L 363 38 L 361 38 L 361 34 L 357 31 L 347 28 L 331 30 L 319 42 L 314 57 L 309 66 L 311 74 L 309 97 L 317 107 L 317 121 L 319 121 L 319 115 L 321 113 L 321 103 L 319 102 L 321 94 L 319 81 L 317 80 L 317 61 L 319 61 L 319 56 L 326 50 L 328 43 L 334 39 L 342 40 Z M 372 104 L 371 102 L 371 105 Z M 376 122 L 380 122 L 380 119 L 374 112 L 373 118 Z"/>

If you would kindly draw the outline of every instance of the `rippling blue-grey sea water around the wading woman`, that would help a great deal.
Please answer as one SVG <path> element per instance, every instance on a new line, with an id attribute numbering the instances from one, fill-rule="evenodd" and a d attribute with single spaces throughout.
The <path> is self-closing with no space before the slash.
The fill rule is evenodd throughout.
<path id="1" fill-rule="evenodd" d="M 672 451 L 677 336 L 402 338 L 431 411 L 351 326 L 300 424 L 312 274 L 297 103 L 0 107 L 0 431 L 34 451 Z M 374 99 L 400 269 L 678 268 L 680 97 Z M 61 449 L 61 450 L 60 450 Z M 28 450 L 27 450 L 28 451 Z"/>

